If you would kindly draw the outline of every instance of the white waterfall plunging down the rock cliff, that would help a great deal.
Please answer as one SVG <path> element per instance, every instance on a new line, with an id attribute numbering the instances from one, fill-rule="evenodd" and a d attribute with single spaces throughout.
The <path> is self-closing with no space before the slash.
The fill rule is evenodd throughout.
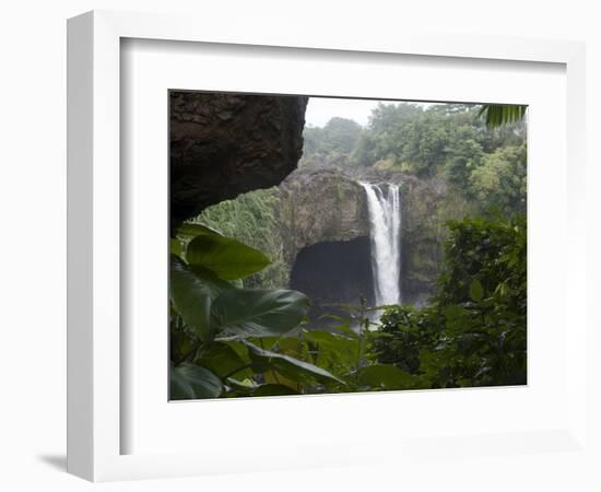
<path id="1" fill-rule="evenodd" d="M 367 196 L 376 305 L 401 302 L 401 195 L 398 185 L 361 183 Z"/>

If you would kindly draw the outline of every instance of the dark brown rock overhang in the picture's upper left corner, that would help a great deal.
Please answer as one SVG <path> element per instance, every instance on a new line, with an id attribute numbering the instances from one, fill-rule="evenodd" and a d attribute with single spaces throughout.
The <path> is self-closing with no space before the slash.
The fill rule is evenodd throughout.
<path id="1" fill-rule="evenodd" d="M 172 91 L 173 224 L 279 185 L 303 154 L 307 97 Z"/>

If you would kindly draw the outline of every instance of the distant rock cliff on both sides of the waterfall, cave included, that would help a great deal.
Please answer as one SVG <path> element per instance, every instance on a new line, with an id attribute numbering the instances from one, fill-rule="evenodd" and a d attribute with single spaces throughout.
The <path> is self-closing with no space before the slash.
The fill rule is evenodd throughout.
<path id="1" fill-rule="evenodd" d="M 360 296 L 374 302 L 369 213 L 357 180 L 401 186 L 403 304 L 425 303 L 436 292 L 447 235 L 444 222 L 449 218 L 443 209 L 448 191 L 444 184 L 400 173 L 350 177 L 300 169 L 280 187 L 279 223 L 292 271 L 290 286 L 311 294 L 315 315 L 333 311 L 331 295 L 338 303 L 356 304 Z"/>

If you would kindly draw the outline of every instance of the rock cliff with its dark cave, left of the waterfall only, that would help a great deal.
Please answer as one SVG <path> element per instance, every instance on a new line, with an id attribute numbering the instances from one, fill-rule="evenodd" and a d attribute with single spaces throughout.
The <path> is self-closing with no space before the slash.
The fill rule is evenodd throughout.
<path id="1" fill-rule="evenodd" d="M 373 302 L 367 200 L 358 183 L 337 172 L 295 172 L 280 187 L 279 222 L 290 288 L 309 296 L 310 319 L 344 315 L 337 306 L 361 297 Z"/>

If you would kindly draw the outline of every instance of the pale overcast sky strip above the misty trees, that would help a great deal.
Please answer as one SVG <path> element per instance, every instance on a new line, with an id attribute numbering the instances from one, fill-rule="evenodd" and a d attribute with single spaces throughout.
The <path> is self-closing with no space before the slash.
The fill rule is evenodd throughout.
<path id="1" fill-rule="evenodd" d="M 309 97 L 305 121 L 314 127 L 323 127 L 331 118 L 353 119 L 360 125 L 367 125 L 372 109 L 380 101 L 378 99 L 342 99 L 331 97 Z M 385 104 L 399 104 L 392 101 L 382 101 Z M 429 103 L 414 103 L 429 106 Z"/>

